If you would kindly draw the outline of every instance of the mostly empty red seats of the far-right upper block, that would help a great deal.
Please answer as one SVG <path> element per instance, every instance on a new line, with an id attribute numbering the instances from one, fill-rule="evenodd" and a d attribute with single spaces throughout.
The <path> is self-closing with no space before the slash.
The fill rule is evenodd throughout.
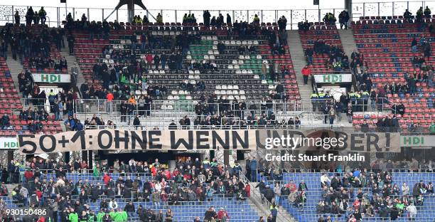
<path id="1" fill-rule="evenodd" d="M 394 20 L 394 24 L 391 21 Z M 388 22 L 387 22 L 388 21 Z M 430 19 L 426 19 L 429 22 Z M 372 80 L 372 88 L 383 88 L 386 84 L 407 84 L 405 75 L 420 72 L 419 67 L 412 63 L 415 56 L 421 56 L 420 47 L 412 51 L 413 38 L 417 42 L 425 38 L 431 44 L 431 56 L 426 57 L 426 64 L 433 65 L 434 40 L 429 33 L 429 23 L 409 23 L 400 18 L 369 18 L 353 22 L 353 33 L 358 51 L 363 54 L 364 63 L 368 68 L 368 76 Z M 420 45 L 420 44 L 419 44 Z M 407 131 L 410 124 L 419 124 L 427 129 L 434 120 L 435 88 L 427 83 L 416 83 L 416 93 L 388 93 L 387 99 L 392 103 L 403 103 L 406 107 L 404 115 L 397 115 L 402 130 Z M 386 104 L 385 107 L 391 107 Z M 356 118 L 353 124 L 359 129 L 362 118 Z M 377 120 L 370 117 L 370 127 L 376 128 Z"/>

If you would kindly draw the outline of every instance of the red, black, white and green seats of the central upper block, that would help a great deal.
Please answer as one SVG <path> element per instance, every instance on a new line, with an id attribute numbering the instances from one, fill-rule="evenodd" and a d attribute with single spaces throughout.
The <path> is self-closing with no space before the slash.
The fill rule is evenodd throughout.
<path id="1" fill-rule="evenodd" d="M 174 26 L 176 26 L 174 24 Z M 142 26 L 140 26 L 142 27 Z M 145 27 L 145 26 L 144 26 Z M 165 25 L 166 27 L 166 25 Z M 168 24 L 168 27 L 172 27 Z M 168 94 L 164 99 L 178 100 L 198 100 L 203 91 L 194 92 L 195 95 L 190 95 L 187 90 L 183 90 L 181 83 L 198 83 L 203 80 L 205 83 L 205 93 L 210 95 L 227 95 L 231 98 L 240 99 L 261 99 L 264 95 L 269 95 L 274 90 L 274 82 L 267 75 L 266 79 L 261 79 L 262 63 L 266 63 L 269 71 L 269 64 L 279 63 L 279 68 L 286 68 L 289 72 L 287 75 L 276 75 L 276 79 L 284 80 L 283 84 L 286 89 L 287 97 L 290 100 L 299 100 L 299 89 L 296 84 L 296 76 L 294 75 L 291 57 L 288 53 L 288 46 L 285 46 L 286 53 L 273 56 L 268 44 L 266 36 L 249 36 L 247 39 L 238 39 L 236 36 L 227 36 L 226 27 L 219 31 L 218 28 L 211 30 L 203 30 L 203 26 L 199 26 L 202 31 L 197 31 L 200 34 L 201 41 L 190 45 L 190 50 L 187 56 L 183 58 L 183 70 L 176 71 L 166 67 L 156 70 L 154 62 L 148 75 L 146 75 L 147 83 L 156 85 L 165 85 L 168 89 Z M 134 30 L 131 30 L 134 29 Z M 92 68 L 98 61 L 104 63 L 117 63 L 116 58 L 110 55 L 102 56 L 104 49 L 108 51 L 131 51 L 131 41 L 129 38 L 132 33 L 136 33 L 138 39 L 142 32 L 147 32 L 154 38 L 163 38 L 162 36 L 176 36 L 180 31 L 149 31 L 141 30 L 136 26 L 129 26 L 127 30 L 111 31 L 109 40 L 89 40 L 88 35 L 82 32 L 75 33 L 75 53 L 79 59 L 80 66 L 85 75 L 87 83 L 94 85 L 95 88 L 101 88 L 101 81 L 92 78 Z M 217 45 L 222 41 L 225 44 L 225 53 L 222 55 L 218 52 Z M 255 53 L 240 55 L 238 47 L 254 46 Z M 141 53 L 140 43 L 136 46 L 136 59 L 144 60 L 146 53 Z M 151 51 L 151 55 L 161 55 L 166 53 L 170 55 L 177 52 L 171 47 L 161 46 L 155 47 Z M 186 70 L 190 63 L 202 63 L 203 60 L 213 61 L 217 65 L 217 70 L 205 70 L 200 72 L 198 69 Z"/>

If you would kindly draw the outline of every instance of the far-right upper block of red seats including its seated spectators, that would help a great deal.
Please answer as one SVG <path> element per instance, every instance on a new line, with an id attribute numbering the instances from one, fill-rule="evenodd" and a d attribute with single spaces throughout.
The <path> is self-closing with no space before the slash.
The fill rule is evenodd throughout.
<path id="1" fill-rule="evenodd" d="M 353 33 L 365 67 L 365 74 L 355 73 L 355 78 L 360 83 L 370 79 L 369 84 L 376 90 L 376 103 L 392 109 L 402 130 L 429 129 L 435 111 L 434 87 L 428 84 L 434 60 L 429 23 L 414 23 L 402 16 L 363 17 L 353 23 Z M 414 40 L 419 42 L 415 48 Z M 417 60 L 421 63 L 417 64 Z M 381 97 L 387 102 L 380 102 Z M 398 105 L 405 107 L 402 112 L 395 109 Z M 361 115 L 355 119 L 355 126 L 363 123 Z M 382 123 L 375 115 L 366 119 L 373 129 Z"/>

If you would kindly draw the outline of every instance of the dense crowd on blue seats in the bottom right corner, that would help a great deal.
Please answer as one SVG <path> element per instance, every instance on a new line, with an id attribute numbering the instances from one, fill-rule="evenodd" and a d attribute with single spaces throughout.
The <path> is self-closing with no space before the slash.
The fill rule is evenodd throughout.
<path id="1" fill-rule="evenodd" d="M 391 162 L 389 162 L 391 164 Z M 375 163 L 377 164 L 377 163 Z M 319 214 L 344 216 L 346 221 L 361 221 L 364 217 L 380 216 L 383 220 L 396 221 L 399 217 L 415 220 L 417 207 L 422 206 L 426 194 L 434 194 L 434 186 L 421 180 L 412 189 L 403 183 L 394 184 L 389 171 L 367 172 L 354 169 L 342 175 L 321 176 L 322 200 Z M 321 216 L 318 221 L 328 221 Z M 333 216 L 335 217 L 335 216 Z"/>

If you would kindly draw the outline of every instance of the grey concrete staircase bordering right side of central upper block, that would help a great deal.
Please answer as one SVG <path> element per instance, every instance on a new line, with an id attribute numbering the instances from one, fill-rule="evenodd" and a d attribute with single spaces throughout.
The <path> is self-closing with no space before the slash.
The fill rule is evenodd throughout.
<path id="1" fill-rule="evenodd" d="M 293 62 L 293 68 L 296 72 L 296 80 L 298 81 L 299 93 L 301 94 L 303 107 L 311 107 L 310 98 L 313 89 L 311 88 L 311 80 L 308 80 L 308 84 L 304 85 L 304 78 L 301 70 L 306 65 L 304 48 L 302 48 L 301 38 L 297 30 L 287 31 L 287 41 L 289 43 L 289 51 L 291 55 L 291 61 Z M 304 109 L 305 110 L 305 109 Z"/>

